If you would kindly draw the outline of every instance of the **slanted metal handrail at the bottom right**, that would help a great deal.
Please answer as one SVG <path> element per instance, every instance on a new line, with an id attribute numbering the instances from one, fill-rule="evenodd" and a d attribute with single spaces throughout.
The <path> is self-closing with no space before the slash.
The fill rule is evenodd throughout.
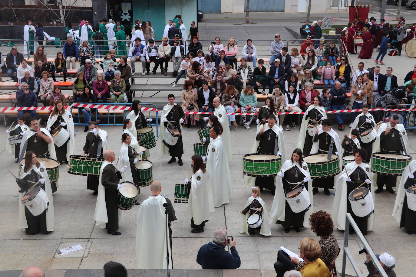
<path id="1" fill-rule="evenodd" d="M 361 274 L 361 272 L 359 270 L 359 267 L 358 267 L 357 263 L 354 260 L 354 257 L 352 257 L 352 254 L 351 254 L 351 252 L 349 251 L 349 248 L 348 248 L 349 225 L 350 224 L 351 224 L 352 228 L 354 229 L 355 233 L 357 234 L 357 237 L 359 238 L 361 243 L 364 245 L 365 250 L 367 250 L 367 253 L 370 255 L 371 260 L 373 261 L 373 264 L 377 268 L 377 270 L 379 271 L 380 275 L 382 277 L 388 277 L 386 272 L 384 271 L 383 267 L 381 266 L 381 264 L 377 260 L 376 255 L 374 254 L 371 246 L 367 242 L 364 235 L 361 233 L 361 230 L 358 228 L 357 223 L 355 223 L 355 221 L 352 218 L 350 213 L 346 214 L 346 220 L 345 220 L 344 247 L 342 248 L 343 252 L 342 252 L 341 277 L 345 277 L 345 268 L 347 266 L 347 258 L 348 258 L 349 262 L 351 263 L 352 268 L 354 269 L 357 276 L 358 277 L 363 277 L 363 275 Z M 354 239 L 355 239 L 355 237 L 354 237 Z"/>

